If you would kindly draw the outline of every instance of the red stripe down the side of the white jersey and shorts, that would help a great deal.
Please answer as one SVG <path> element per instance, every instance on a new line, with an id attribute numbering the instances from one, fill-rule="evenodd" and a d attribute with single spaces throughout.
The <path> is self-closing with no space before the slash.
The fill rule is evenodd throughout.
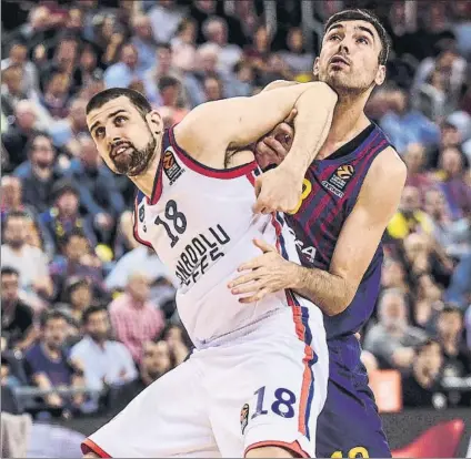
<path id="1" fill-rule="evenodd" d="M 272 213 L 271 215 L 271 223 L 274 226 L 274 231 L 277 234 L 277 251 L 279 254 L 281 254 L 281 243 L 280 243 L 280 236 L 281 236 L 281 224 L 275 217 L 275 213 Z M 304 357 L 302 358 L 302 361 L 304 364 L 304 371 L 302 375 L 302 385 L 301 385 L 301 396 L 300 396 L 300 406 L 299 406 L 299 419 L 298 419 L 298 430 L 300 434 L 307 436 L 307 408 L 309 402 L 309 392 L 311 385 L 313 384 L 312 380 L 312 373 L 311 368 L 309 366 L 309 363 L 312 361 L 314 357 L 314 351 L 309 344 L 305 343 L 305 326 L 302 323 L 302 310 L 301 306 L 295 302 L 293 293 L 290 289 L 285 290 L 287 295 L 287 302 L 288 305 L 291 307 L 292 314 L 293 314 L 293 322 L 294 322 L 294 329 L 295 335 L 300 341 L 304 344 Z"/>

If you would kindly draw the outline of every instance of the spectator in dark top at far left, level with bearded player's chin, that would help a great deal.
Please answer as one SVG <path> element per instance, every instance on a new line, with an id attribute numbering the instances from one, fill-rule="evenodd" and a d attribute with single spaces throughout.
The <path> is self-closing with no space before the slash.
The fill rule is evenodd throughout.
<path id="1" fill-rule="evenodd" d="M 29 160 L 20 164 L 13 174 L 23 183 L 24 204 L 42 213 L 51 205 L 52 186 L 62 172 L 54 165 L 56 151 L 47 135 L 36 135 L 27 150 Z"/>

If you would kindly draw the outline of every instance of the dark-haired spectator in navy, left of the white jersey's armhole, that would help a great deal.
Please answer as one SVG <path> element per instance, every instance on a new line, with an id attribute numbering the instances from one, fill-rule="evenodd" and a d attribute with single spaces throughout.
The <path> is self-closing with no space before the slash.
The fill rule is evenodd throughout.
<path id="1" fill-rule="evenodd" d="M 90 217 L 79 213 L 79 192 L 76 185 L 63 178 L 57 183 L 51 191 L 54 204 L 39 216 L 46 246 L 49 253 L 57 253 L 64 237 L 74 230 L 82 231 L 88 241 L 97 245 Z"/>

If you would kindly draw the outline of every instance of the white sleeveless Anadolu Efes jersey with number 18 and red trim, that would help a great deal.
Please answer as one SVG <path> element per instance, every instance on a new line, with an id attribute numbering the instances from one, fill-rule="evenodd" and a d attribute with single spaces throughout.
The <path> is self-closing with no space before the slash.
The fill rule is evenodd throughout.
<path id="1" fill-rule="evenodd" d="M 242 263 L 261 255 L 255 237 L 300 263 L 282 215 L 252 212 L 258 174 L 255 162 L 222 171 L 202 165 L 177 145 L 170 129 L 152 195 L 137 195 L 134 236 L 178 278 L 178 312 L 197 347 L 288 307 L 285 292 L 244 305 L 228 287 Z"/>

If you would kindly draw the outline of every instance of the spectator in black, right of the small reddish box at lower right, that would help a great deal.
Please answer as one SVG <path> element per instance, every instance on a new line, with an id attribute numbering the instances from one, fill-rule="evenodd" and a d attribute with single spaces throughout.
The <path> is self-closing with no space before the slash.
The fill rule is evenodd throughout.
<path id="1" fill-rule="evenodd" d="M 443 407 L 445 399 L 440 385 L 442 365 L 440 345 L 432 339 L 413 351 L 412 371 L 402 377 L 402 404 L 405 408 Z"/>

